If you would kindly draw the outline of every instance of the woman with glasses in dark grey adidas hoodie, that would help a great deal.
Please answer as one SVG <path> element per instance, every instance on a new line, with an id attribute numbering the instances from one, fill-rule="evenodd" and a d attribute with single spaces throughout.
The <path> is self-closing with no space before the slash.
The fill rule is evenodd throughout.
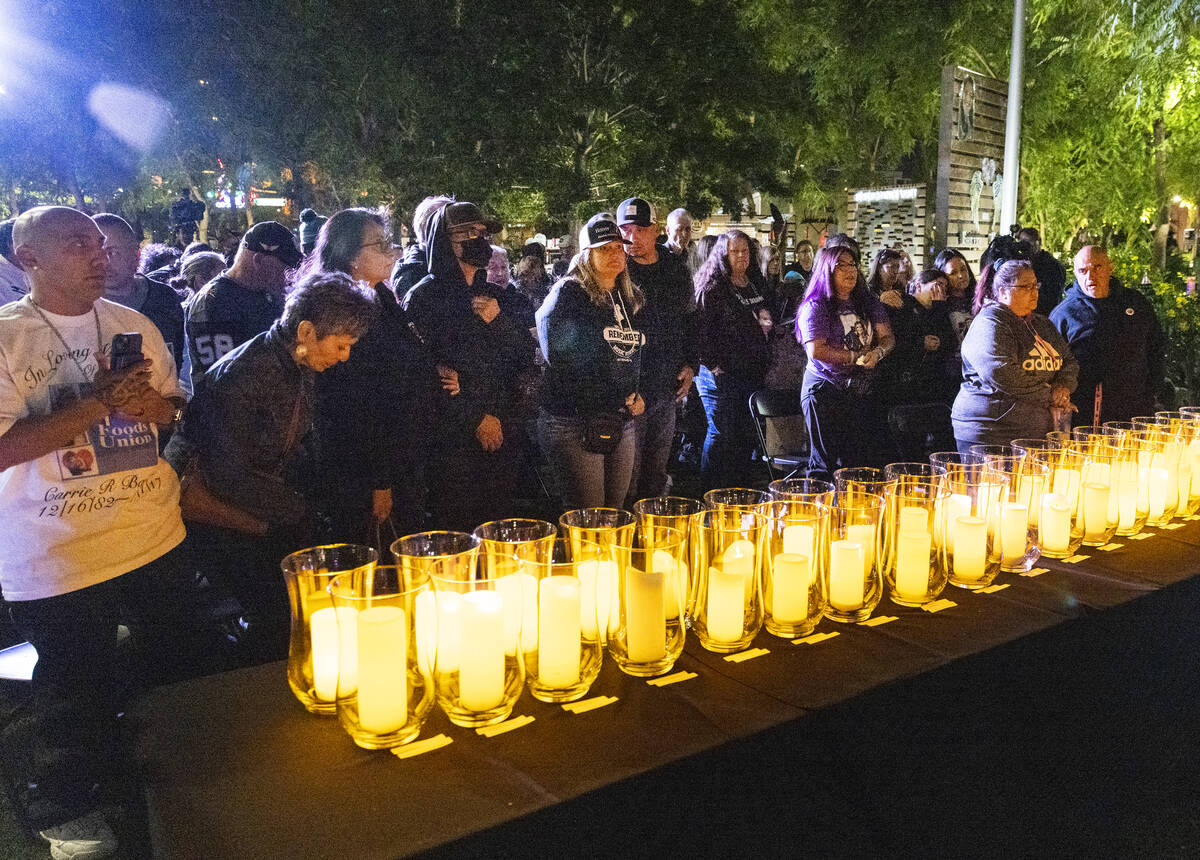
<path id="1" fill-rule="evenodd" d="M 1034 313 L 1038 279 L 1027 260 L 984 270 L 982 305 L 962 339 L 962 385 L 950 414 L 959 451 L 1007 445 L 1054 429 L 1052 408 L 1073 409 L 1079 362 L 1054 324 Z"/>

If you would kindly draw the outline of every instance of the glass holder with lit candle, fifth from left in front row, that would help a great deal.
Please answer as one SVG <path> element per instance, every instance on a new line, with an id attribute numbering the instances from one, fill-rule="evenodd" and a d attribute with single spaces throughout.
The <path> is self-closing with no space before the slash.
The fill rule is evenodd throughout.
<path id="1" fill-rule="evenodd" d="M 692 630 L 709 651 L 740 651 L 762 629 L 763 521 L 756 511 L 736 507 L 707 510 L 696 521 Z"/>

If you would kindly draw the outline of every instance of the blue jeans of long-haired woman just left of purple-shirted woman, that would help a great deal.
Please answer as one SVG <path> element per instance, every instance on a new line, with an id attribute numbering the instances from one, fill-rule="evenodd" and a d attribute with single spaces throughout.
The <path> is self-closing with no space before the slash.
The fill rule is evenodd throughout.
<path id="1" fill-rule="evenodd" d="M 750 456 L 758 443 L 750 415 L 750 393 L 755 386 L 730 373 L 714 375 L 702 366 L 696 390 L 708 419 L 700 458 L 704 488 L 743 487 L 750 479 Z"/>

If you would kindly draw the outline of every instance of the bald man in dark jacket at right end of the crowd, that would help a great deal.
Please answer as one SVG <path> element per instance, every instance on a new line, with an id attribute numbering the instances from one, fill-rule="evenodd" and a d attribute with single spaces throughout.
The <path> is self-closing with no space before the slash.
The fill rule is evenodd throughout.
<path id="1" fill-rule="evenodd" d="M 1150 301 L 1112 275 L 1098 245 L 1075 254 L 1075 281 L 1050 320 L 1079 360 L 1075 422 L 1098 425 L 1153 415 L 1163 385 L 1166 339 Z"/>

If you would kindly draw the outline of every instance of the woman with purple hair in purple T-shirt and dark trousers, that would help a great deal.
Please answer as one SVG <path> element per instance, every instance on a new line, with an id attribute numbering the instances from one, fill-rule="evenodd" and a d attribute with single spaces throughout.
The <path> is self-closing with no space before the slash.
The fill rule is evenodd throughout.
<path id="1" fill-rule="evenodd" d="M 800 389 L 809 477 L 828 481 L 835 469 L 870 458 L 863 429 L 871 377 L 895 344 L 887 308 L 866 288 L 851 248 L 821 249 L 796 318 L 796 339 L 809 354 Z"/>

